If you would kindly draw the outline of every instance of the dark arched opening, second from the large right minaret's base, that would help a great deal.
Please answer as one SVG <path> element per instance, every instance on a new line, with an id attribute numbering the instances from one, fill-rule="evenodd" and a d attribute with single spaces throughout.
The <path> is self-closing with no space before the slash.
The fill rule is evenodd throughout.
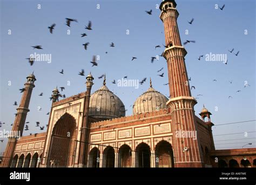
<path id="1" fill-rule="evenodd" d="M 136 147 L 135 167 L 150 168 L 150 146 L 142 142 Z"/>

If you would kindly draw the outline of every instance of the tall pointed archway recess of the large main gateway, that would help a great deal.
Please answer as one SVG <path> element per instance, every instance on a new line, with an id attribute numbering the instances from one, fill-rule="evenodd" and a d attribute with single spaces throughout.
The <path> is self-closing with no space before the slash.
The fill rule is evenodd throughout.
<path id="1" fill-rule="evenodd" d="M 76 120 L 65 113 L 56 122 L 51 136 L 51 148 L 48 164 L 53 167 L 72 165 L 75 146 Z"/>

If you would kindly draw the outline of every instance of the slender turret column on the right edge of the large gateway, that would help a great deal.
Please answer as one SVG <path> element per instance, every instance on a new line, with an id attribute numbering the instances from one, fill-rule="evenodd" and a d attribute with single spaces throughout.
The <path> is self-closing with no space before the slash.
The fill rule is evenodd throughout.
<path id="1" fill-rule="evenodd" d="M 89 124 L 89 104 L 90 104 L 90 97 L 91 97 L 91 88 L 93 85 L 93 77 L 90 74 L 86 77 L 86 94 L 84 97 L 84 108 L 83 108 L 83 122 L 81 136 L 80 136 L 80 143 L 79 143 L 79 159 L 78 159 L 78 167 L 86 167 L 87 161 L 87 150 L 88 150 L 88 143 L 89 142 L 89 135 L 90 135 L 90 124 Z"/>

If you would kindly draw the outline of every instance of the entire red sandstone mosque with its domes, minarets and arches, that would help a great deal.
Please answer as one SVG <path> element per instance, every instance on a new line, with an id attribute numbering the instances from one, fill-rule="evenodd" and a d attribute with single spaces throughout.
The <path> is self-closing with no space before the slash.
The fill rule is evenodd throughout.
<path id="1" fill-rule="evenodd" d="M 125 116 L 123 102 L 106 86 L 58 101 L 52 92 L 49 125 L 45 133 L 9 138 L 2 167 L 255 167 L 256 148 L 215 150 L 211 113 L 194 113 L 181 45 L 174 0 L 160 4 L 164 24 L 164 58 L 169 74 L 170 99 L 149 89 Z M 27 77 L 12 131 L 24 129 L 36 78 Z"/>

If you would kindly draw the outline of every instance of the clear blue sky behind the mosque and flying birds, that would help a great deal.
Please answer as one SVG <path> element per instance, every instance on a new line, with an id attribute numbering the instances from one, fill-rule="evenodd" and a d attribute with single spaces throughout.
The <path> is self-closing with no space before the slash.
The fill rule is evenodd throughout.
<path id="1" fill-rule="evenodd" d="M 0 131 L 11 129 L 17 108 L 13 104 L 15 101 L 19 104 L 22 97 L 19 88 L 24 87 L 26 77 L 32 71 L 37 81 L 26 117 L 30 130 L 24 131 L 23 135 L 42 132 L 35 127 L 36 121 L 41 122 L 41 126 L 48 124 L 49 115 L 46 113 L 50 112 L 49 97 L 53 88 L 64 86 L 61 93 L 66 97 L 84 92 L 85 77 L 89 72 L 95 77 L 92 92 L 102 86 L 103 79 L 98 77 L 106 74 L 106 85 L 124 102 L 126 115 L 132 114 L 134 101 L 149 88 L 150 77 L 153 87 L 169 97 L 169 86 L 164 85 L 168 83 L 166 60 L 160 57 L 151 63 L 151 57 L 164 51 L 164 26 L 157 9 L 160 2 L 1 0 L 0 121 L 5 124 Z M 252 145 L 245 148 L 256 147 L 256 122 L 241 122 L 256 120 L 255 1 L 177 0 L 176 3 L 181 42 L 196 40 L 196 43 L 185 45 L 190 86 L 196 87 L 192 90 L 198 101 L 194 107 L 196 115 L 199 117 L 203 105 L 212 113 L 217 149 L 241 148 L 247 143 Z M 38 9 L 38 4 L 41 9 Z M 216 4 L 225 4 L 225 8 L 215 9 Z M 145 11 L 151 9 L 152 15 L 148 15 Z M 65 18 L 77 19 L 78 23 L 71 22 L 69 28 L 65 25 Z M 194 22 L 188 24 L 192 18 Z M 85 30 L 89 20 L 92 30 Z M 48 26 L 53 23 L 56 26 L 51 34 Z M 10 31 L 11 35 L 8 34 Z M 81 33 L 87 36 L 82 38 Z M 90 43 L 87 50 L 83 47 L 86 42 Z M 110 47 L 112 42 L 115 47 Z M 42 45 L 43 50 L 33 50 L 31 46 L 35 45 Z M 155 49 L 157 45 L 161 47 Z M 233 48 L 232 53 L 228 52 Z M 237 51 L 239 54 L 235 56 Z M 25 58 L 35 52 L 51 54 L 51 63 L 35 61 L 30 66 Z M 206 61 L 205 56 L 210 53 L 226 54 L 228 63 Z M 93 55 L 99 56 L 98 66 L 91 66 Z M 201 55 L 204 57 L 198 60 Z M 137 59 L 131 61 L 132 57 Z M 164 69 L 157 72 L 161 67 Z M 59 73 L 62 69 L 64 74 Z M 82 69 L 85 77 L 78 75 Z M 161 73 L 164 77 L 158 76 Z M 124 76 L 147 80 L 138 89 L 111 83 Z M 250 86 L 244 87 L 245 81 Z M 43 96 L 38 96 L 42 92 Z M 232 122 L 241 123 L 217 126 Z M 251 133 L 246 136 L 245 132 Z M 6 142 L 6 138 L 0 142 L 0 152 L 4 152 Z"/>

